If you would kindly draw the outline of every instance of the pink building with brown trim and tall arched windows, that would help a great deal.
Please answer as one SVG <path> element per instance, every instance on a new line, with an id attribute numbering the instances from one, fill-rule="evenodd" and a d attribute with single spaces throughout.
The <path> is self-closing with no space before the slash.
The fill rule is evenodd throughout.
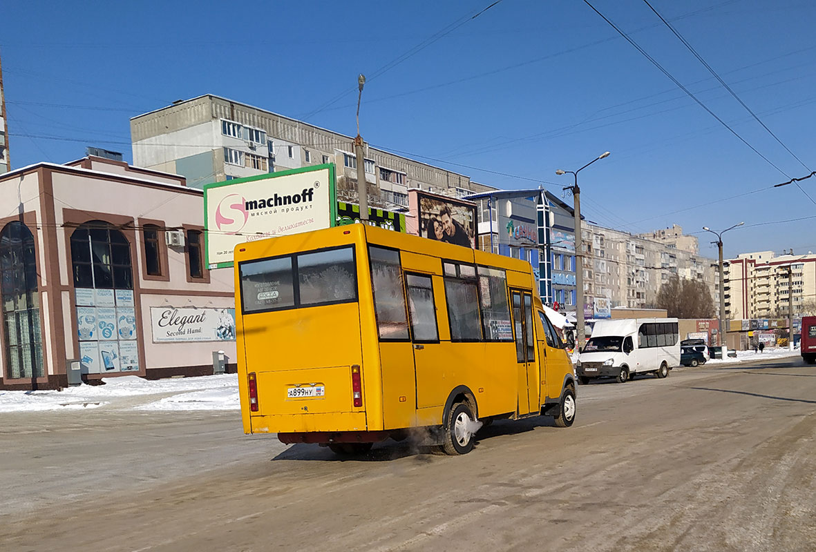
<path id="1" fill-rule="evenodd" d="M 0 389 L 234 368 L 233 274 L 204 266 L 202 191 L 86 157 L 0 175 Z M 77 364 L 73 363 L 76 367 Z"/>

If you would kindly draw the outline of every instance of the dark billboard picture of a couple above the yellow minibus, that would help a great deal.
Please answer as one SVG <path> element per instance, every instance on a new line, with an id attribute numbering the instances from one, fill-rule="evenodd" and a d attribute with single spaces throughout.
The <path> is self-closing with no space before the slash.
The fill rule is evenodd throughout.
<path id="1" fill-rule="evenodd" d="M 476 248 L 476 204 L 417 192 L 419 236 Z"/>

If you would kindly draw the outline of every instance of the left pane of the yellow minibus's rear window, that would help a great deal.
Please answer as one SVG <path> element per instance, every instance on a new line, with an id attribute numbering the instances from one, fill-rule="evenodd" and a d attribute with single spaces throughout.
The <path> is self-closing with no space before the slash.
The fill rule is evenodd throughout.
<path id="1" fill-rule="evenodd" d="M 244 314 L 295 306 L 295 278 L 291 257 L 241 263 L 239 269 Z"/>

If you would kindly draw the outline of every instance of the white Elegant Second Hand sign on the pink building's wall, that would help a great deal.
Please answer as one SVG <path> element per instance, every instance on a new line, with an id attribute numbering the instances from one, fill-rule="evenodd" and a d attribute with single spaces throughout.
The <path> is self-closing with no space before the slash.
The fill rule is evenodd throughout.
<path id="1" fill-rule="evenodd" d="M 234 308 L 151 307 L 154 343 L 235 341 Z"/>

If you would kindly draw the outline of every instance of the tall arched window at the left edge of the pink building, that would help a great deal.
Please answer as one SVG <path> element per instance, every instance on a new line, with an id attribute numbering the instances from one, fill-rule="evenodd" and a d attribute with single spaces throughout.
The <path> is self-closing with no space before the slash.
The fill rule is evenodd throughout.
<path id="1" fill-rule="evenodd" d="M 23 223 L 8 223 L 0 232 L 0 280 L 6 377 L 40 378 L 44 370 L 37 257 L 34 236 Z"/>

